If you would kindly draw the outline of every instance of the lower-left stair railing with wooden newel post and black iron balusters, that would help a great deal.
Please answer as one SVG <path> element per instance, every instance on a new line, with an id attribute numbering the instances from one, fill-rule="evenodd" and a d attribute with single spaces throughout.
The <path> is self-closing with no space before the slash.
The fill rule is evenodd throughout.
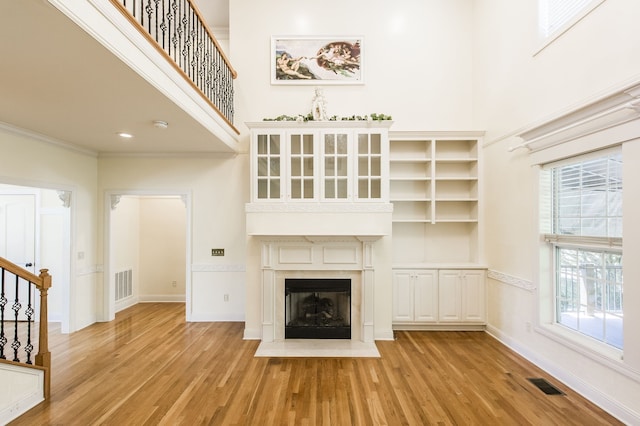
<path id="1" fill-rule="evenodd" d="M 34 365 L 35 361 L 35 365 L 44 370 L 44 398 L 48 399 L 51 392 L 51 352 L 47 293 L 51 288 L 51 275 L 47 269 L 41 269 L 40 275 L 35 275 L 2 257 L 0 270 L 0 360 L 26 365 Z M 40 293 L 37 342 L 33 341 L 32 335 L 37 307 L 34 289 Z M 32 360 L 34 343 L 38 345 L 38 352 Z"/>

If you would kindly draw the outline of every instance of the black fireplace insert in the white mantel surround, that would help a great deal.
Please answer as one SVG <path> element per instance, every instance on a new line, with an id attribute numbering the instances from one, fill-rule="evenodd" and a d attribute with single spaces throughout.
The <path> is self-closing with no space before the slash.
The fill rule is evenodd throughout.
<path id="1" fill-rule="evenodd" d="M 287 278 L 286 339 L 350 339 L 351 280 Z"/>

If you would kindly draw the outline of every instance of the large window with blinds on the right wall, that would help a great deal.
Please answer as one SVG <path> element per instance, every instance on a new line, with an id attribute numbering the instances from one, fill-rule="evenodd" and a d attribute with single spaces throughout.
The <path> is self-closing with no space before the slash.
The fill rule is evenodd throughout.
<path id="1" fill-rule="evenodd" d="M 622 153 L 550 165 L 541 179 L 555 322 L 622 349 Z"/>

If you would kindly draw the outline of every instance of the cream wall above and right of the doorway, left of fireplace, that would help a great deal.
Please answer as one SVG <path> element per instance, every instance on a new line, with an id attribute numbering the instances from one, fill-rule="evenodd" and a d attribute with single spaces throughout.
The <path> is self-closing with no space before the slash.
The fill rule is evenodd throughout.
<path id="1" fill-rule="evenodd" d="M 99 161 L 101 194 L 188 194 L 187 318 L 241 321 L 245 312 L 245 218 L 249 170 L 246 156 L 112 158 Z M 100 209 L 108 208 L 102 205 Z M 100 236 L 101 248 L 105 241 Z M 224 248 L 224 257 L 212 257 Z M 102 253 L 102 250 L 101 250 Z M 101 255 L 102 256 L 102 255 Z M 228 301 L 225 301 L 225 294 Z"/>

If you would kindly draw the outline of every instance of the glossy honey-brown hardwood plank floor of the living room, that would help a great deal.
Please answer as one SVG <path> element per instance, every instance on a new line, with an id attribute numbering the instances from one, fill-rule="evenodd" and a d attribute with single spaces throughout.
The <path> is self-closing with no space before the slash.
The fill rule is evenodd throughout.
<path id="1" fill-rule="evenodd" d="M 243 323 L 139 304 L 52 331 L 51 400 L 12 425 L 621 424 L 481 332 L 397 332 L 381 358 L 255 358 Z M 545 395 L 543 377 L 565 395 Z"/>

